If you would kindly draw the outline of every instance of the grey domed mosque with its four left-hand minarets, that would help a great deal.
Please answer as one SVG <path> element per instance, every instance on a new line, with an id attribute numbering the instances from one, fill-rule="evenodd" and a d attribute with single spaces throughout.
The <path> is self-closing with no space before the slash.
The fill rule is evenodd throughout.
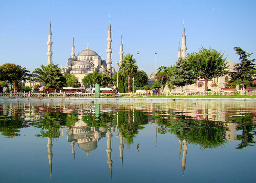
<path id="1" fill-rule="evenodd" d="M 51 52 L 51 21 L 49 26 L 49 34 L 48 34 L 48 60 L 47 65 L 52 64 L 52 52 Z M 78 82 L 82 85 L 82 79 L 87 76 L 87 74 L 92 73 L 93 71 L 100 72 L 104 74 L 106 69 L 110 73 L 109 76 L 112 77 L 115 73 L 114 67 L 112 67 L 112 60 L 111 60 L 111 25 L 110 25 L 110 16 L 109 16 L 109 25 L 108 25 L 108 38 L 107 38 L 107 60 L 101 59 L 101 56 L 98 55 L 93 50 L 90 50 L 89 44 L 87 43 L 87 48 L 85 50 L 80 51 L 77 55 L 75 54 L 75 46 L 74 46 L 74 36 L 72 42 L 72 52 L 71 57 L 67 59 L 67 66 L 62 68 L 61 72 L 65 75 L 71 74 L 78 78 Z M 120 64 L 123 63 L 123 43 L 122 43 L 122 34 L 121 34 L 121 44 L 120 44 Z M 76 55 L 76 56 L 75 56 Z"/>

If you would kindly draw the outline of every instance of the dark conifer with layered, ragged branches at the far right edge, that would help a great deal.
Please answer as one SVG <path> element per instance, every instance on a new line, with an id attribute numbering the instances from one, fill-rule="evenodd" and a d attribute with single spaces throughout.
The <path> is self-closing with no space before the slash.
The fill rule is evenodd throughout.
<path id="1" fill-rule="evenodd" d="M 236 54 L 239 56 L 240 63 L 234 65 L 233 72 L 230 72 L 231 83 L 233 85 L 241 84 L 243 88 L 246 89 L 247 86 L 251 86 L 252 82 L 255 77 L 254 70 L 256 67 L 254 66 L 253 62 L 255 59 L 249 60 L 253 53 L 246 53 L 240 47 L 234 47 Z"/>

